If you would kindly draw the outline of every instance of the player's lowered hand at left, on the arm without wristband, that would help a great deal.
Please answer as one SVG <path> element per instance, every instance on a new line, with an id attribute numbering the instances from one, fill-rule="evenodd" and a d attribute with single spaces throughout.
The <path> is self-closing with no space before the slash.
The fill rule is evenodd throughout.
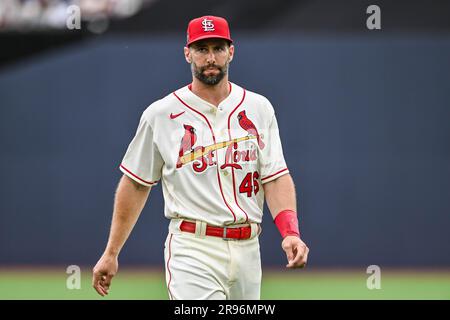
<path id="1" fill-rule="evenodd" d="M 92 270 L 92 286 L 102 297 L 108 294 L 111 279 L 116 275 L 118 268 L 117 256 L 103 254 Z"/>

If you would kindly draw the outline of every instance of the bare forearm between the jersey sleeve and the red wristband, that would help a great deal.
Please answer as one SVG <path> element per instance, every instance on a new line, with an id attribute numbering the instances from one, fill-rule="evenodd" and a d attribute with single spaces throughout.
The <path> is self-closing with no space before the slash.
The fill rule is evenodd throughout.
<path id="1" fill-rule="evenodd" d="M 297 211 L 295 185 L 290 174 L 267 182 L 263 187 L 267 206 L 274 219 L 282 210 Z"/>

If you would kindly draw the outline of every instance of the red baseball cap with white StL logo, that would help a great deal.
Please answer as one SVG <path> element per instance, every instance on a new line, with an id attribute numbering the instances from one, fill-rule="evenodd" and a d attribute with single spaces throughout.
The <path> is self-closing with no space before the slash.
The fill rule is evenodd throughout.
<path id="1" fill-rule="evenodd" d="M 221 17 L 203 16 L 189 22 L 186 46 L 208 38 L 220 38 L 233 42 L 227 20 Z"/>

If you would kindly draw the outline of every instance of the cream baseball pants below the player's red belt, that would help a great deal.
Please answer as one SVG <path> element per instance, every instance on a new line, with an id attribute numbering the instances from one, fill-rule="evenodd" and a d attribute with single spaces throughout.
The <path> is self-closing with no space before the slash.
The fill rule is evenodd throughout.
<path id="1" fill-rule="evenodd" d="M 166 284 L 171 300 L 259 300 L 260 228 L 245 240 L 206 236 L 206 224 L 189 233 L 172 219 L 165 242 Z M 197 222 L 204 224 L 204 222 Z M 197 230 L 196 229 L 196 230 Z"/>

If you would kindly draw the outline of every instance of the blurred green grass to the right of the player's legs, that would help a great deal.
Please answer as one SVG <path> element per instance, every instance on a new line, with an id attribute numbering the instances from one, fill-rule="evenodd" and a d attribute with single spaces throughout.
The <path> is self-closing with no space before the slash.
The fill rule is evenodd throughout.
<path id="1" fill-rule="evenodd" d="M 364 272 L 313 272 L 289 276 L 269 274 L 264 299 L 450 299 L 450 272 L 382 271 L 381 288 L 369 290 Z"/>

